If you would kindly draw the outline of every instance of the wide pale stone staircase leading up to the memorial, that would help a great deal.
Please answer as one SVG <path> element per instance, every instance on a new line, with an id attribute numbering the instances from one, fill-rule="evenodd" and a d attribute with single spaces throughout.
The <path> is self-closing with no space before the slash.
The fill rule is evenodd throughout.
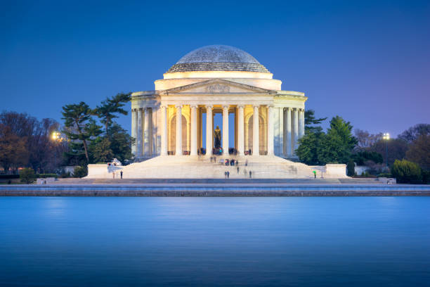
<path id="1" fill-rule="evenodd" d="M 220 162 L 227 158 L 215 156 L 216 162 L 211 162 L 205 156 L 158 156 L 144 162 L 135 162 L 122 167 L 124 179 L 208 179 L 224 178 L 225 172 L 230 172 L 232 179 L 312 179 L 313 169 L 299 162 L 292 162 L 271 155 L 262 156 L 228 156 L 239 162 L 236 166 L 226 166 Z M 245 165 L 247 162 L 247 165 Z M 239 172 L 237 172 L 239 167 Z"/>

